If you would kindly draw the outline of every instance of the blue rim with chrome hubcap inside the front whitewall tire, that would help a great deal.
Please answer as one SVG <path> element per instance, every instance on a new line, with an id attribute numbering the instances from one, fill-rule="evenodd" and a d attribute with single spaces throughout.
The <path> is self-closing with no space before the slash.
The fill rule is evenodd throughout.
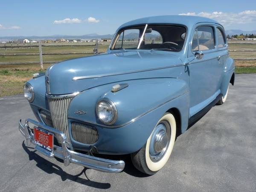
<path id="1" fill-rule="evenodd" d="M 149 156 L 152 161 L 162 159 L 169 146 L 171 138 L 171 126 L 167 121 L 161 121 L 155 128 L 149 144 Z"/>

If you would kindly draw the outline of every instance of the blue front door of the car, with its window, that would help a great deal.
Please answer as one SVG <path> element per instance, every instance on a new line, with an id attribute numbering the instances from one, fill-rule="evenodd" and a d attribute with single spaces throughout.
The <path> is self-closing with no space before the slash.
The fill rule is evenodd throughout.
<path id="1" fill-rule="evenodd" d="M 216 46 L 215 25 L 200 23 L 195 26 L 189 50 L 190 110 L 193 116 L 220 93 L 221 67 Z M 195 53 L 201 54 L 195 58 Z"/>

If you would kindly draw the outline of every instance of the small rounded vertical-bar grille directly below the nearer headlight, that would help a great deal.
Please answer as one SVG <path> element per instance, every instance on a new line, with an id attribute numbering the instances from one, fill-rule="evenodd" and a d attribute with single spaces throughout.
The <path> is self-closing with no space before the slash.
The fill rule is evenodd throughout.
<path id="1" fill-rule="evenodd" d="M 79 122 L 72 122 L 72 136 L 79 143 L 93 144 L 98 140 L 99 134 L 97 129 L 92 125 Z"/>

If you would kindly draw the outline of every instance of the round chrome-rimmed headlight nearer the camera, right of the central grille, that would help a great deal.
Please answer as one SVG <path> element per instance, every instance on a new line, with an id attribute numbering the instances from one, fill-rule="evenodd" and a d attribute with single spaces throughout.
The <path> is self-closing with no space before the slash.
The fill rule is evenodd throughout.
<path id="1" fill-rule="evenodd" d="M 96 105 L 96 113 L 99 120 L 107 125 L 112 125 L 116 122 L 117 111 L 115 104 L 109 100 L 100 100 Z"/>

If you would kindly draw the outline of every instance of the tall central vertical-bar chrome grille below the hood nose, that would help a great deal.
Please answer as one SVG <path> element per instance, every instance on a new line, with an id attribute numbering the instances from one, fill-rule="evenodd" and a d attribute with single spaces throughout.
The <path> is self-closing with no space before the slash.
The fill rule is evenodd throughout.
<path id="1" fill-rule="evenodd" d="M 49 108 L 52 115 L 53 127 L 62 131 L 67 136 L 67 141 L 70 143 L 70 137 L 68 134 L 68 120 L 67 120 L 67 110 L 72 97 L 66 98 L 54 98 L 49 97 Z M 59 143 L 62 142 L 61 136 L 55 136 Z"/>

